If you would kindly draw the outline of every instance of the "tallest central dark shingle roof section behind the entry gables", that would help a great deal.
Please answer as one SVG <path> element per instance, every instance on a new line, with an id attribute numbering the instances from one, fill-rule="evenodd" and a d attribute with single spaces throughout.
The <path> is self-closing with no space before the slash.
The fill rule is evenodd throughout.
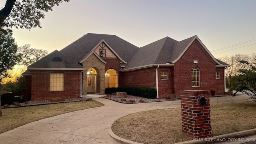
<path id="1" fill-rule="evenodd" d="M 108 34 L 91 34 L 88 33 L 72 44 L 66 46 L 60 52 L 65 54 L 75 62 L 79 62 L 86 56 L 102 39 L 120 56 L 124 61 L 129 62 L 132 56 L 139 49 L 137 46 L 119 38 L 115 35 Z"/>

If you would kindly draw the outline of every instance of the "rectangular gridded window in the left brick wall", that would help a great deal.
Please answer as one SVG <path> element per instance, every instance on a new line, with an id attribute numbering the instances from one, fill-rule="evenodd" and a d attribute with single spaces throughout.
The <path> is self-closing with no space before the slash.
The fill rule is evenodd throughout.
<path id="1" fill-rule="evenodd" d="M 50 91 L 64 90 L 64 74 L 50 73 Z"/>

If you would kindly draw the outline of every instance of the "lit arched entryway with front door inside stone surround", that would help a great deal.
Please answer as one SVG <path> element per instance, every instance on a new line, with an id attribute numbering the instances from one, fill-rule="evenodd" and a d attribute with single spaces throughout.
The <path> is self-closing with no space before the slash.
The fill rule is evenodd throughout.
<path id="1" fill-rule="evenodd" d="M 89 68 L 87 71 L 87 93 L 93 94 L 97 93 L 97 71 L 94 68 Z"/>

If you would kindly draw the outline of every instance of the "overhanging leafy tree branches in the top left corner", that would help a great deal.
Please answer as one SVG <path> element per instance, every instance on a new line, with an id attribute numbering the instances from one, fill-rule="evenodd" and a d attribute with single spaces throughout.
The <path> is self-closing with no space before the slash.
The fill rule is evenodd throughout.
<path id="1" fill-rule="evenodd" d="M 4 8 L 0 10 L 1 31 L 4 27 L 28 29 L 40 27 L 40 19 L 44 12 L 52 11 L 53 6 L 58 6 L 69 0 L 6 0 Z"/>

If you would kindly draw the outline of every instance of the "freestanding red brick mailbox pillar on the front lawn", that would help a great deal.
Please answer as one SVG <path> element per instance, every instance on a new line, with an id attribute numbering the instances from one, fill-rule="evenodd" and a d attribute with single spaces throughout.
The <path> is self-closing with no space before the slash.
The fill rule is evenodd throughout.
<path id="1" fill-rule="evenodd" d="M 185 90 L 181 94 L 182 132 L 190 138 L 211 137 L 209 91 Z"/>

